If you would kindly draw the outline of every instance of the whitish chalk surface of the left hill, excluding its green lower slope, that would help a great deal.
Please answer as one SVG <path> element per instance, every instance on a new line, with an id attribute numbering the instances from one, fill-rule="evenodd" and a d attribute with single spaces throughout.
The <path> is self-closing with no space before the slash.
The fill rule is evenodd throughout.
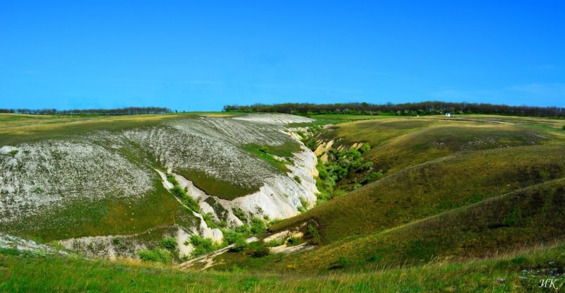
<path id="1" fill-rule="evenodd" d="M 121 198 L 133 203 L 148 196 L 156 188 L 155 182 L 171 187 L 167 186 L 168 182 L 162 182 L 160 174 L 155 172 L 155 164 L 162 168 L 162 172 L 196 169 L 210 177 L 229 181 L 234 186 L 261 186 L 252 194 L 227 201 L 206 194 L 189 179 L 175 174 L 189 195 L 199 201 L 203 213 L 213 213 L 220 218 L 217 210 L 208 204 L 208 198 L 212 197 L 227 210 L 227 222 L 232 227 L 242 224 L 233 215 L 234 208 L 242 209 L 249 217 L 292 217 L 299 213 L 301 201 L 311 205 L 316 201 L 314 153 L 302 146 L 302 151 L 291 158 L 292 164 L 287 164 L 290 172 L 283 174 L 265 160 L 247 153 L 242 146 L 276 146 L 297 141 L 287 132 L 285 124 L 307 121 L 311 119 L 286 114 L 249 114 L 236 118 L 186 117 L 166 120 L 157 126 L 95 131 L 69 140 L 5 145 L 0 148 L 0 223 L 10 225 L 23 219 L 30 221 L 33 219 L 30 216 L 76 201 Z M 131 149 L 132 145 L 136 148 L 134 153 L 148 153 L 156 162 L 152 165 L 150 162 L 132 161 L 123 152 L 124 148 Z M 88 221 L 78 219 L 81 220 Z M 41 220 L 37 219 L 37 222 L 25 225 L 40 223 Z M 194 223 L 194 227 L 175 228 L 180 229 L 174 232 L 179 242 L 186 240 L 189 234 L 221 239 L 221 232 L 212 231 L 203 220 L 195 220 Z M 113 238 L 100 234 L 90 236 L 89 239 L 102 237 L 100 240 L 108 246 L 106 250 L 112 251 L 109 246 L 112 246 Z M 73 249 L 73 241 L 64 243 Z M 74 248 L 78 246 L 76 244 Z"/>

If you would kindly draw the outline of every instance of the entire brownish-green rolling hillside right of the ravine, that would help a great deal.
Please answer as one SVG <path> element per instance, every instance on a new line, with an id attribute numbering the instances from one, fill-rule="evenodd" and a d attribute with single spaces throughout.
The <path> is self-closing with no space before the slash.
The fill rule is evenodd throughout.
<path id="1" fill-rule="evenodd" d="M 256 270 L 379 270 L 432 258 L 484 258 L 561 241 L 565 136 L 561 121 L 513 117 L 385 117 L 316 133 L 363 153 L 383 177 L 269 228 L 316 229 L 318 248 L 261 261 L 219 257 Z M 348 189 L 357 172 L 338 182 Z M 306 224 L 305 224 L 306 223 Z M 541 232 L 544 230 L 544 232 Z M 311 235 L 310 235 L 311 236 Z M 302 243 L 302 241 L 300 241 Z"/>

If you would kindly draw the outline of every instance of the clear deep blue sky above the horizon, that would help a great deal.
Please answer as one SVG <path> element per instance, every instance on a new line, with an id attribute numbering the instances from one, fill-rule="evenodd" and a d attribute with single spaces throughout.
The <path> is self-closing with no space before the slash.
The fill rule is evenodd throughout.
<path id="1" fill-rule="evenodd" d="M 0 108 L 424 100 L 565 107 L 565 1 L 0 4 Z"/>

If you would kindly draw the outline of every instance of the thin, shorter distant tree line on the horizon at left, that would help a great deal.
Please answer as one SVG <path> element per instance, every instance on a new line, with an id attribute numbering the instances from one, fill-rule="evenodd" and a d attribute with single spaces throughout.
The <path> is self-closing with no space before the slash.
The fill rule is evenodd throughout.
<path id="1" fill-rule="evenodd" d="M 125 107 L 119 109 L 0 109 L 0 113 L 35 114 L 35 115 L 80 115 L 80 116 L 113 116 L 136 114 L 164 114 L 172 111 L 162 107 Z"/>

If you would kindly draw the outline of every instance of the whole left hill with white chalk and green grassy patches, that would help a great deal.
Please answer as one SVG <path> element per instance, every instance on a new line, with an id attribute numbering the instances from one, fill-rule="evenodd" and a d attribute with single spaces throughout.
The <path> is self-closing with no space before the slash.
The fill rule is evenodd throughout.
<path id="1" fill-rule="evenodd" d="M 42 241 L 173 226 L 202 234 L 203 220 L 167 191 L 158 172 L 191 180 L 187 196 L 211 213 L 209 223 L 220 222 L 216 213 L 223 206 L 226 228 L 240 225 L 232 210 L 249 219 L 289 217 L 298 213 L 299 198 L 314 198 L 308 178 L 304 184 L 292 178 L 307 171 L 285 165 L 294 165 L 295 153 L 303 151 L 285 124 L 311 121 L 303 117 L 0 114 L 0 121 L 0 232 Z M 253 205 L 242 199 L 261 188 L 275 199 Z M 205 197 L 215 198 L 215 208 Z"/>

